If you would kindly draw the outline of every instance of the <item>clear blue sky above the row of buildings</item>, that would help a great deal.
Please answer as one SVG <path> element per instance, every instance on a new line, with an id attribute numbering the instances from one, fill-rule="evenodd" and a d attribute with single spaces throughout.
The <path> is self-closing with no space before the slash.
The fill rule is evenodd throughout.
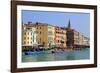
<path id="1" fill-rule="evenodd" d="M 67 27 L 70 20 L 71 28 L 90 37 L 90 14 L 79 12 L 55 12 L 22 10 L 22 22 L 41 22 L 54 26 Z"/>

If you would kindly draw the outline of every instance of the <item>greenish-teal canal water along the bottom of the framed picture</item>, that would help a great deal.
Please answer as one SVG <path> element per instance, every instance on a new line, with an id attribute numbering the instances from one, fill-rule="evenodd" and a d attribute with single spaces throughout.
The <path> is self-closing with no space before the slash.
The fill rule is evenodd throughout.
<path id="1" fill-rule="evenodd" d="M 63 60 L 83 60 L 90 58 L 90 49 L 72 50 L 63 53 L 49 54 L 22 54 L 22 62 L 41 62 L 41 61 L 63 61 Z"/>

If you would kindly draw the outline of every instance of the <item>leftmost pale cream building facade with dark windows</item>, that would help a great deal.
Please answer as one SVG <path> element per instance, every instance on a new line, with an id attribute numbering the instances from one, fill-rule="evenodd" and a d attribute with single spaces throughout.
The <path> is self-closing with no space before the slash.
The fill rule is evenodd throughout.
<path id="1" fill-rule="evenodd" d="M 37 45 L 36 29 L 23 27 L 22 30 L 22 46 L 23 48 L 32 48 Z"/>

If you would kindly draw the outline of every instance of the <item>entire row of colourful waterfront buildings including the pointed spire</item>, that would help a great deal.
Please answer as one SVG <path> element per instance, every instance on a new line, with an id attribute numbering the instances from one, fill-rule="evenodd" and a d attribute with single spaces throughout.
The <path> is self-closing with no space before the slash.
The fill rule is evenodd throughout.
<path id="1" fill-rule="evenodd" d="M 23 48 L 35 46 L 63 48 L 89 47 L 89 38 L 81 32 L 71 29 L 70 26 L 70 21 L 67 28 L 39 22 L 23 24 L 22 46 Z"/>

